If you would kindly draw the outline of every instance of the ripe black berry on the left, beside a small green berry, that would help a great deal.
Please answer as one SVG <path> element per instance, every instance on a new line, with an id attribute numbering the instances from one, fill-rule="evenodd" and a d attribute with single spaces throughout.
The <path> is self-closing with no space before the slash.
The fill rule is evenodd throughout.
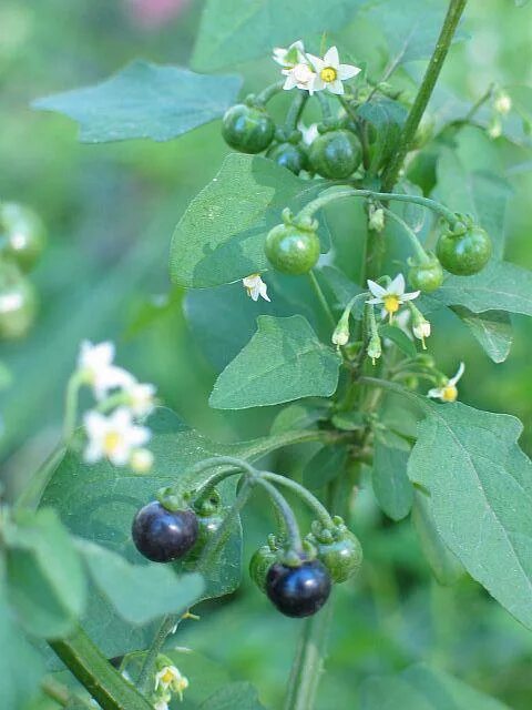
<path id="1" fill-rule="evenodd" d="M 131 528 L 136 549 L 154 562 L 184 557 L 196 541 L 197 530 L 193 510 L 167 510 L 158 500 L 141 508 Z"/>

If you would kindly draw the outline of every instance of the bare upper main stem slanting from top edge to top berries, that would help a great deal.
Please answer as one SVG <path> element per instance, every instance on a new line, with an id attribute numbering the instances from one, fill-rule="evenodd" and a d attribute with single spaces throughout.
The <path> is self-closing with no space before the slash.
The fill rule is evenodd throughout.
<path id="1" fill-rule="evenodd" d="M 432 57 L 430 58 L 429 65 L 424 73 L 423 80 L 419 88 L 416 100 L 407 116 L 407 121 L 402 129 L 402 133 L 399 141 L 399 146 L 391 159 L 382 180 L 382 191 L 389 192 L 396 184 L 405 158 L 412 148 L 412 143 L 418 130 L 419 123 L 423 116 L 427 104 L 434 89 L 438 77 L 440 75 L 443 62 L 446 61 L 449 48 L 451 47 L 452 38 L 457 30 L 460 18 L 462 17 L 466 8 L 467 0 L 451 0 L 447 11 L 443 26 L 440 31 L 440 37 L 436 44 Z"/>

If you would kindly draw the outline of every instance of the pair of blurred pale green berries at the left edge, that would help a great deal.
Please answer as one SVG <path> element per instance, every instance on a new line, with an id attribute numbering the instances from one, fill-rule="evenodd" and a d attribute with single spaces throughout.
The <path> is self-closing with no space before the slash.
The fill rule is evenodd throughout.
<path id="1" fill-rule="evenodd" d="M 38 298 L 27 274 L 44 243 L 44 226 L 30 207 L 0 203 L 0 338 L 23 337 L 33 324 Z"/>

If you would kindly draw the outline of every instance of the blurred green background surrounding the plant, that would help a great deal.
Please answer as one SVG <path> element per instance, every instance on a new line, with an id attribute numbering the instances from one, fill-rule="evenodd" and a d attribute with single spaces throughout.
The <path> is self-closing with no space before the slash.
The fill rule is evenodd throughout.
<path id="1" fill-rule="evenodd" d="M 180 292 L 170 293 L 167 252 L 173 227 L 191 197 L 214 175 L 227 152 L 218 124 L 170 143 L 76 142 L 66 119 L 32 112 L 32 99 L 94 83 L 135 57 L 186 64 L 200 2 L 166 0 L 2 0 L 0 4 L 0 200 L 33 206 L 50 243 L 34 278 L 41 308 L 30 336 L 0 344 L 12 375 L 0 393 L 0 462 L 14 497 L 58 437 L 65 382 L 82 338 L 116 342 L 120 364 L 154 382 L 162 399 L 213 438 L 267 432 L 274 410 L 221 415 L 207 406 L 215 377 L 190 334 Z M 444 83 L 474 101 L 492 81 L 532 79 L 532 6 L 471 0 L 469 41 L 457 47 Z M 357 57 L 377 79 L 386 63 L 377 29 L 349 30 Z M 297 39 L 297 38 L 295 38 Z M 274 78 L 268 61 L 243 68 L 246 87 Z M 511 261 L 532 268 L 530 161 L 503 139 L 462 133 L 470 166 L 498 164 L 514 187 L 508 216 Z M 458 322 L 438 323 L 431 349 L 449 374 L 463 359 L 461 399 L 510 412 L 524 423 L 522 445 L 532 454 L 530 321 L 515 317 L 515 342 L 493 365 Z M 229 326 L 228 326 L 229 327 Z M 297 462 L 298 452 L 291 452 Z M 290 460 L 285 457 L 284 465 Z M 297 465 L 297 464 L 295 464 Z M 366 551 L 356 586 L 339 590 L 331 652 L 318 708 L 357 707 L 360 679 L 416 660 L 438 667 L 505 701 L 532 704 L 532 636 L 472 581 L 453 589 L 431 581 L 410 523 L 390 524 L 362 487 L 356 529 Z M 269 531 L 259 506 L 245 516 L 247 555 Z M 188 622 L 180 645 L 221 661 L 236 679 L 253 681 L 264 702 L 278 707 L 298 625 L 273 613 L 245 581 L 231 600 L 208 606 Z M 186 704 L 186 703 L 185 703 Z"/>

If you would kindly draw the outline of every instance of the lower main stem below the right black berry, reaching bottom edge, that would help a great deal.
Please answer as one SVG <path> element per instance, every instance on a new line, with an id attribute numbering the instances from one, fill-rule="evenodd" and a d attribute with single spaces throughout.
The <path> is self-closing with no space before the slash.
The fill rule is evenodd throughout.
<path id="1" fill-rule="evenodd" d="M 332 600 L 306 619 L 286 691 L 284 710 L 311 710 L 324 670 L 324 649 L 332 619 Z"/>

